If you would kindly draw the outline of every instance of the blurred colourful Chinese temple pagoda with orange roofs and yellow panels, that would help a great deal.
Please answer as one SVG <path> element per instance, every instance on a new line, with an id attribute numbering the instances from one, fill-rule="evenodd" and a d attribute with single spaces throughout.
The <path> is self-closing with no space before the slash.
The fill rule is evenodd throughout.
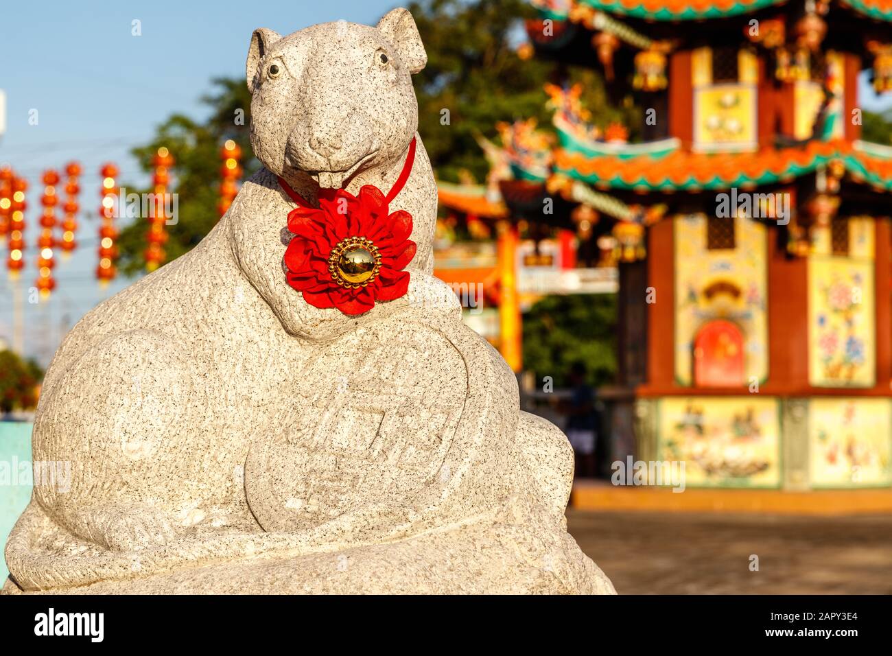
<path id="1" fill-rule="evenodd" d="M 474 328 L 520 370 L 524 304 L 616 291 L 612 459 L 685 461 L 689 486 L 892 486 L 892 147 L 861 140 L 857 97 L 864 70 L 892 89 L 892 2 L 532 4 L 526 54 L 632 93 L 643 140 L 558 84 L 557 138 L 500 125 L 485 184 L 441 183 L 436 274 L 499 307 Z"/>

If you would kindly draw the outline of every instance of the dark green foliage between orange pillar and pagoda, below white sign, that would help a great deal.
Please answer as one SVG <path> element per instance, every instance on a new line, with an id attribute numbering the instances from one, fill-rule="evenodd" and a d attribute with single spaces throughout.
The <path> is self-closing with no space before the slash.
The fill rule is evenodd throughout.
<path id="1" fill-rule="evenodd" d="M 566 386 L 574 362 L 582 361 L 588 382 L 616 378 L 616 296 L 546 296 L 524 315 L 524 370 L 536 380 L 550 376 Z"/>

